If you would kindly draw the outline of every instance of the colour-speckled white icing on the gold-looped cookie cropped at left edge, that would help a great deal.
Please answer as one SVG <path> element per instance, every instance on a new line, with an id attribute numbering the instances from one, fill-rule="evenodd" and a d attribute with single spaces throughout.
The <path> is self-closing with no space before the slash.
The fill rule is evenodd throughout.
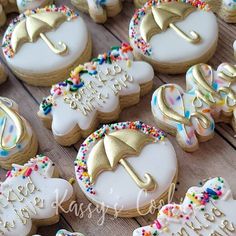
<path id="1" fill-rule="evenodd" d="M 18 105 L 11 99 L 0 97 L 0 102 L 7 105 L 14 112 L 18 112 Z M 19 116 L 19 114 L 17 116 Z M 25 151 L 25 148 L 32 140 L 33 132 L 30 125 L 22 116 L 19 116 L 19 119 L 21 119 L 22 125 L 24 126 L 24 136 L 20 142 L 16 143 L 15 141 L 19 135 L 16 124 L 14 123 L 14 120 L 4 112 L 4 110 L 0 109 L 0 130 L 4 130 L 4 132 L 1 133 L 1 138 L 7 147 L 5 149 L 0 148 L 0 160 L 7 160 L 16 153 L 18 153 L 17 158 L 19 158 L 21 151 Z M 8 149 L 9 147 L 13 148 Z M 31 149 L 31 147 L 28 148 Z"/>

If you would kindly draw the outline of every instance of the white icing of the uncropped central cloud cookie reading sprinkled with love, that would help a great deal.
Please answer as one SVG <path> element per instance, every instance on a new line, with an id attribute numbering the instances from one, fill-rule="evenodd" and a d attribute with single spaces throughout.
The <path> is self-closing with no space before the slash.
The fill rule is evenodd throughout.
<path id="1" fill-rule="evenodd" d="M 71 99 L 74 94 L 83 93 L 83 90 L 79 89 L 77 92 L 71 93 L 69 91 L 70 85 L 67 84 L 67 86 L 60 86 L 58 88 L 60 91 L 60 95 L 58 96 L 55 92 L 58 86 L 55 85 L 52 87 L 52 96 L 48 97 L 48 100 L 51 100 L 53 105 L 51 112 L 46 114 L 46 116 L 52 119 L 52 131 L 54 135 L 66 135 L 72 131 L 76 125 L 82 130 L 89 129 L 98 116 L 98 112 L 112 113 L 119 107 L 119 96 L 140 93 L 140 85 L 150 82 L 153 79 L 154 72 L 152 67 L 146 62 L 133 61 L 132 53 L 124 53 L 123 55 L 121 49 L 118 51 L 115 49 L 111 53 L 115 55 L 118 53 L 117 55 L 119 55 L 119 57 L 124 58 L 113 61 L 112 64 L 105 62 L 100 64 L 100 62 L 98 62 L 95 64 L 96 69 L 94 69 L 97 73 L 96 75 L 90 75 L 88 73 L 81 75 L 81 79 L 84 81 L 83 87 L 87 88 L 84 90 L 82 99 L 80 101 L 77 100 L 76 104 L 78 107 L 76 109 L 72 109 L 70 104 L 66 103 L 64 99 L 65 97 Z M 101 74 L 101 71 L 105 73 L 107 68 L 111 69 L 113 73 L 114 66 L 117 70 L 122 68 L 122 72 L 114 76 Z M 99 81 L 98 77 L 96 77 L 98 74 L 101 74 L 101 78 L 104 79 L 104 82 Z M 89 83 L 92 84 L 96 92 L 88 88 Z M 114 84 L 118 84 L 119 88 L 115 87 Z M 91 100 L 91 102 L 88 102 L 89 100 Z M 40 116 L 45 116 L 43 103 L 40 106 Z M 85 110 L 85 107 L 88 108 L 88 106 L 90 109 Z"/>

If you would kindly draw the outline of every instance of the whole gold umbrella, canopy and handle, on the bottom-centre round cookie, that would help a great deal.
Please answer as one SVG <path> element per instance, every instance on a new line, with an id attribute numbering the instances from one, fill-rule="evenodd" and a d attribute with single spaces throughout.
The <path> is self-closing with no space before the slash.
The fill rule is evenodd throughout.
<path id="1" fill-rule="evenodd" d="M 132 129 L 119 130 L 106 135 L 93 147 L 87 160 L 91 183 L 95 182 L 102 171 L 113 170 L 121 164 L 139 188 L 147 191 L 154 190 L 157 184 L 153 177 L 146 173 L 145 181 L 141 180 L 124 159 L 127 156 L 140 154 L 143 146 L 149 142 L 153 142 L 153 138 Z"/>

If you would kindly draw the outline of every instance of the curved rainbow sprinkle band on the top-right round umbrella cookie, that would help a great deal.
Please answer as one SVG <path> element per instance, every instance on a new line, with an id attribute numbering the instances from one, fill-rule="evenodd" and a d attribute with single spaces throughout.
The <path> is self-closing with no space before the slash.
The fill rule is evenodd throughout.
<path id="1" fill-rule="evenodd" d="M 150 56 L 152 54 L 152 48 L 149 43 L 147 43 L 139 33 L 139 22 L 141 18 L 147 13 L 147 11 L 153 7 L 157 6 L 164 2 L 183 2 L 186 4 L 191 4 L 198 9 L 209 11 L 210 6 L 201 0 L 149 0 L 145 3 L 145 5 L 137 9 L 131 19 L 130 22 L 130 30 L 129 30 L 129 38 L 133 40 L 134 44 L 137 46 L 139 50 L 141 50 L 144 55 Z"/>

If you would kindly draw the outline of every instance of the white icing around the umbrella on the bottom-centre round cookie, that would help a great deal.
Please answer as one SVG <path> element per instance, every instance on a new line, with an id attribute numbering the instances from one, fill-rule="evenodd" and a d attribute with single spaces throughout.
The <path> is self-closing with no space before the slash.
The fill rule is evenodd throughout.
<path id="1" fill-rule="evenodd" d="M 143 130 L 145 131 L 150 130 L 150 127 L 145 128 L 146 125 L 141 122 L 134 122 L 134 124 L 136 127 L 142 127 L 142 125 L 144 125 Z M 161 196 L 168 192 L 168 189 L 176 176 L 176 153 L 167 138 L 162 137 L 161 141 L 158 141 L 157 139 L 155 142 L 147 144 L 138 156 L 124 157 L 140 178 L 143 179 L 145 173 L 148 173 L 153 177 L 154 181 L 157 183 L 157 187 L 152 191 L 145 192 L 143 189 L 139 188 L 120 164 L 113 170 L 104 170 L 103 172 L 100 172 L 95 183 L 91 185 L 93 190 L 86 186 L 86 183 L 89 182 L 87 182 L 86 179 L 81 179 L 83 173 L 80 172 L 81 166 L 82 168 L 83 165 L 86 166 L 93 146 L 99 140 L 94 140 L 93 137 L 100 137 L 98 135 L 100 132 L 111 134 L 116 130 L 124 129 L 124 127 L 129 125 L 129 122 L 117 123 L 110 127 L 107 125 L 88 137 L 79 150 L 75 161 L 75 170 L 82 191 L 89 199 L 92 199 L 93 202 L 96 202 L 105 208 L 116 210 L 117 212 L 137 210 L 139 213 L 140 210 L 144 206 L 150 204 L 152 200 L 160 200 Z M 144 132 L 143 130 L 141 132 Z M 96 158 L 99 158 L 99 156 Z M 81 160 L 83 161 L 80 162 Z M 93 191 L 95 194 L 93 194 Z M 149 213 L 148 210 L 142 214 L 147 213 Z"/>

